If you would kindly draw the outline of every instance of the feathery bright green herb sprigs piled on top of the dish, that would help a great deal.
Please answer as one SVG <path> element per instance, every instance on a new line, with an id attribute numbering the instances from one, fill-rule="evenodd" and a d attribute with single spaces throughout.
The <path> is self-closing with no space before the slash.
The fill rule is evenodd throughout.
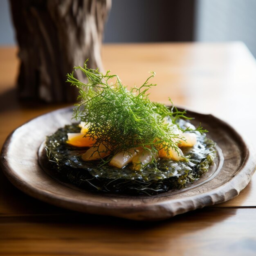
<path id="1" fill-rule="evenodd" d="M 73 72 L 67 74 L 67 82 L 79 89 L 74 118 L 88 123 L 86 136 L 97 138 L 93 146 L 99 148 L 103 144 L 106 151 L 111 151 L 110 157 L 139 146 L 157 152 L 160 145 L 167 152 L 169 148 L 178 152 L 175 141 L 182 140 L 182 135 L 176 121 L 190 118 L 186 117 L 186 111 L 177 110 L 172 102 L 172 107 L 167 108 L 164 104 L 150 101 L 148 90 L 155 84 L 149 80 L 155 72 L 150 72 L 143 85 L 129 91 L 117 75 L 110 74 L 110 70 L 103 74 L 98 69 L 90 69 L 87 61 L 84 67 L 74 67 L 74 70 L 81 70 L 88 83 L 77 80 Z M 196 130 L 205 132 L 201 126 Z"/>

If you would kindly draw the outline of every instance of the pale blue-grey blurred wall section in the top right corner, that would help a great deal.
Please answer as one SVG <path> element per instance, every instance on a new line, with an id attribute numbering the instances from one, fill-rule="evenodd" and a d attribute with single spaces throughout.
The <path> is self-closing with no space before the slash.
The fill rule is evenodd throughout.
<path id="1" fill-rule="evenodd" d="M 255 0 L 197 0 L 195 40 L 241 40 L 256 57 Z"/>

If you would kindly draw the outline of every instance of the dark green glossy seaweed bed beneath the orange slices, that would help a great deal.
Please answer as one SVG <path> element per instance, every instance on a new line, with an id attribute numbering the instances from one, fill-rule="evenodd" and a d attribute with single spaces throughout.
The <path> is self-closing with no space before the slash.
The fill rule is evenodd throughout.
<path id="1" fill-rule="evenodd" d="M 186 122 L 179 120 L 179 126 Z M 102 165 L 101 160 L 83 161 L 87 148 L 76 148 L 66 143 L 68 132 L 79 132 L 78 124 L 59 128 L 46 139 L 47 157 L 53 173 L 90 191 L 154 195 L 171 189 L 182 189 L 198 180 L 216 157 L 215 143 L 204 133 L 195 131 L 197 144 L 183 148 L 186 161 L 162 158 L 134 171 L 128 164 L 124 168 Z"/>

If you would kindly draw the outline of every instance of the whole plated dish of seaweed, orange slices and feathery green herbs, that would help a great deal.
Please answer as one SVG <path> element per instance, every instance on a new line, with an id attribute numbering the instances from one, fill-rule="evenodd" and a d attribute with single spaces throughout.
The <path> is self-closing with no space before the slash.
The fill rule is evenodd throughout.
<path id="1" fill-rule="evenodd" d="M 47 136 L 50 168 L 67 182 L 89 191 L 145 194 L 181 189 L 209 170 L 215 143 L 186 111 L 151 102 L 149 80 L 130 90 L 117 75 L 74 67 L 83 83 L 67 74 L 79 89 L 76 122 Z"/>

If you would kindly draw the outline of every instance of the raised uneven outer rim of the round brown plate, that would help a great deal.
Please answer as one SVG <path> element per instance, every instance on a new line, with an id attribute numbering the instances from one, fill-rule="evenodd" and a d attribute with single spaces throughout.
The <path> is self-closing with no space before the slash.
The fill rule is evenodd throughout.
<path id="1" fill-rule="evenodd" d="M 35 119 L 46 117 L 47 115 L 52 115 L 52 113 L 57 114 L 60 112 L 67 112 L 70 111 L 70 109 L 70 107 L 67 107 L 60 110 L 55 110 L 53 112 L 49 112 L 34 119 L 31 119 L 30 121 L 26 122 L 16 130 L 14 130 L 7 137 L 7 140 L 5 141 L 2 148 L 1 166 L 8 179 L 21 191 L 45 202 L 68 209 L 75 209 L 77 211 L 84 211 L 88 213 L 113 215 L 136 220 L 159 220 L 170 218 L 176 214 L 184 213 L 186 211 L 197 208 L 202 208 L 207 205 L 225 202 L 226 200 L 234 198 L 236 195 L 239 194 L 242 189 L 245 188 L 245 186 L 247 186 L 255 171 L 255 157 L 254 155 L 252 155 L 252 153 L 250 153 L 250 150 L 245 144 L 245 141 L 238 134 L 238 132 L 234 130 L 234 128 L 211 114 L 205 115 L 189 111 L 192 115 L 196 114 L 199 116 L 207 117 L 208 119 L 218 120 L 233 133 L 233 135 L 237 138 L 237 140 L 239 140 L 239 142 L 243 146 L 243 162 L 241 163 L 241 167 L 236 171 L 232 179 L 227 180 L 225 183 L 215 189 L 211 189 L 211 193 L 207 191 L 198 195 L 190 195 L 189 197 L 184 197 L 180 199 L 171 199 L 169 201 L 164 200 L 159 202 L 143 202 L 141 204 L 134 205 L 131 205 L 130 203 L 117 204 L 115 203 L 115 201 L 113 201 L 113 203 L 103 204 L 102 202 L 95 202 L 93 200 L 87 200 L 85 202 L 84 200 L 80 200 L 78 198 L 69 198 L 66 195 L 62 195 L 61 193 L 53 193 L 52 191 L 49 192 L 47 189 L 44 190 L 42 188 L 33 186 L 33 184 L 30 184 L 25 180 L 20 180 L 20 178 L 16 175 L 16 170 L 13 170 L 13 168 L 9 165 L 8 159 L 6 157 L 8 154 L 9 145 L 12 143 L 13 140 L 15 140 L 15 132 L 17 132 L 24 125 L 29 124 Z M 162 214 L 157 214 L 159 212 L 162 212 Z"/>

